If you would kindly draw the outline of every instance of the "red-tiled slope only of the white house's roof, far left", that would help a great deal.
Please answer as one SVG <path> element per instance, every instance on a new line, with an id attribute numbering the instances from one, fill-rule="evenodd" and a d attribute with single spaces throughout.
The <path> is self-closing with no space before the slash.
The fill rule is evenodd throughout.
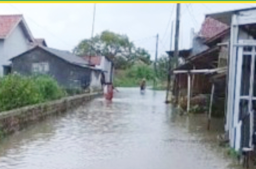
<path id="1" fill-rule="evenodd" d="M 0 38 L 5 38 L 20 22 L 22 15 L 0 15 Z"/>

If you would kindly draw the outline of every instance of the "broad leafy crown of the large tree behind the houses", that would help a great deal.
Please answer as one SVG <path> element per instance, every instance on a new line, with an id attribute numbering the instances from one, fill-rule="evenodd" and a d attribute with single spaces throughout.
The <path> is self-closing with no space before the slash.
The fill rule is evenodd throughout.
<path id="1" fill-rule="evenodd" d="M 143 48 L 135 47 L 127 35 L 103 31 L 91 39 L 82 40 L 73 52 L 78 56 L 95 56 L 101 54 L 113 60 L 116 69 L 125 69 L 140 60 L 151 64 L 150 54 Z"/>

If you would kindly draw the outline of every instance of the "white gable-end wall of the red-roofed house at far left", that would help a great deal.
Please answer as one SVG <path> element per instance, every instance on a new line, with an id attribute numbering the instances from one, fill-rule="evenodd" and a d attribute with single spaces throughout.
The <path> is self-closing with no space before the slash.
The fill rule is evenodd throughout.
<path id="1" fill-rule="evenodd" d="M 3 65 L 8 65 L 11 62 L 9 59 L 17 56 L 30 48 L 30 42 L 22 31 L 21 25 L 19 24 L 11 34 L 3 40 L 2 45 L 0 44 L 0 76 L 3 75 Z"/>

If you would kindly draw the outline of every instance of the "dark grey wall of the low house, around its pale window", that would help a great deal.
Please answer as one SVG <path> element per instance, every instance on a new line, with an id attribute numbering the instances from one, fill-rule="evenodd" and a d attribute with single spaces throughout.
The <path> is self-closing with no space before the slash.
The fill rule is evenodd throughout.
<path id="1" fill-rule="evenodd" d="M 70 64 L 39 47 L 14 58 L 12 71 L 32 75 L 32 64 L 40 62 L 49 64 L 47 74 L 53 76 L 65 88 L 88 87 L 90 84 L 91 69 Z"/>

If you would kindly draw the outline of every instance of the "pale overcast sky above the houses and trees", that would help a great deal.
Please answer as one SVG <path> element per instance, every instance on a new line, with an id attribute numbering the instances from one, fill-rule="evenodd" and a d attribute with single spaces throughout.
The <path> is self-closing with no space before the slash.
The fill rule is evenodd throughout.
<path id="1" fill-rule="evenodd" d="M 205 14 L 254 7 L 256 4 L 181 4 L 180 46 L 190 46 L 191 28 L 199 31 Z M 34 37 L 46 39 L 49 47 L 72 50 L 91 37 L 94 4 L 1 4 L 0 14 L 23 14 Z M 137 47 L 155 56 L 170 50 L 171 22 L 176 4 L 96 4 L 94 35 L 103 30 L 126 34 Z M 175 22 L 174 22 L 175 24 Z"/>

